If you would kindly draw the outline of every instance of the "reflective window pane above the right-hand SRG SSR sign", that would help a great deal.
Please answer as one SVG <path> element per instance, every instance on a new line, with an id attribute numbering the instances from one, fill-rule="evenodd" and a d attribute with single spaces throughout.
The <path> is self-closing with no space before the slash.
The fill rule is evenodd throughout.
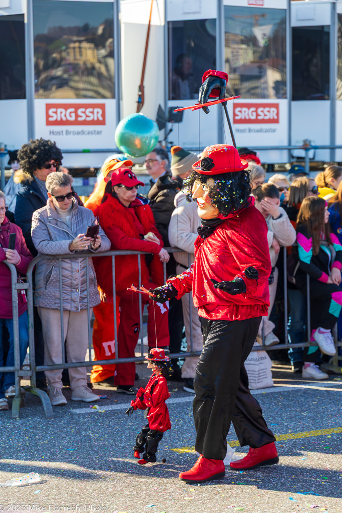
<path id="1" fill-rule="evenodd" d="M 286 10 L 225 6 L 227 92 L 286 98 Z"/>

